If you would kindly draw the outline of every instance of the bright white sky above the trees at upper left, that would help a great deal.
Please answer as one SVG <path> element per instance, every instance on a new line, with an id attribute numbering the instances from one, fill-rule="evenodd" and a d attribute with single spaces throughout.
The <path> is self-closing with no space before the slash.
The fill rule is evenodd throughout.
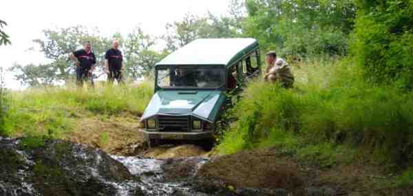
<path id="1" fill-rule="evenodd" d="M 97 27 L 103 35 L 114 32 L 127 34 L 140 26 L 146 34 L 165 34 L 165 25 L 181 21 L 184 14 L 224 15 L 230 0 L 6 0 L 1 2 L 0 19 L 6 21 L 6 33 L 12 45 L 0 46 L 1 63 L 4 69 L 13 63 L 43 63 L 43 54 L 28 51 L 34 46 L 33 39 L 43 36 L 47 28 L 66 28 L 72 25 Z M 21 85 L 6 73 L 6 87 L 20 89 Z"/>

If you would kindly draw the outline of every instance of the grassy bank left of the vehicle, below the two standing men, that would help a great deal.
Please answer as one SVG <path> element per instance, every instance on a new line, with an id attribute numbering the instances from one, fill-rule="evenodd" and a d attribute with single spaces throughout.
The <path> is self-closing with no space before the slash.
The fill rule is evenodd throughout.
<path id="1" fill-rule="evenodd" d="M 61 138 L 84 116 L 130 113 L 140 116 L 153 94 L 152 83 L 94 89 L 74 86 L 26 89 L 8 94 L 2 135 Z"/>

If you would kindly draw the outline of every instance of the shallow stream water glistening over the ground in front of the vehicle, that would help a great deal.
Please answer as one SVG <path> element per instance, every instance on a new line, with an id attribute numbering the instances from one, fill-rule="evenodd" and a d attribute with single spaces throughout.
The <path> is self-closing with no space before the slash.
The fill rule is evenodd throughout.
<path id="1" fill-rule="evenodd" d="M 131 193 L 128 188 L 135 188 L 136 186 L 140 187 L 144 195 L 206 195 L 191 190 L 191 187 L 188 186 L 188 180 L 191 179 L 191 176 L 183 181 L 167 179 L 165 177 L 167 173 L 162 169 L 162 165 L 166 164 L 168 160 L 116 155 L 111 155 L 111 157 L 125 165 L 132 175 L 140 177 L 141 180 L 139 183 L 119 184 L 118 190 L 120 191 L 118 195 Z M 196 159 L 191 175 L 195 176 L 200 166 L 205 162 L 207 162 L 205 159 Z"/>

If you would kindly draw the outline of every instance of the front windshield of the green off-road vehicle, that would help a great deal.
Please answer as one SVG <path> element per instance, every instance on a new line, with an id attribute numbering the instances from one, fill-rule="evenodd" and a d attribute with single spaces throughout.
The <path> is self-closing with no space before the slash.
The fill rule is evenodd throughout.
<path id="1" fill-rule="evenodd" d="M 220 67 L 162 67 L 156 70 L 161 88 L 218 88 L 224 84 Z"/>

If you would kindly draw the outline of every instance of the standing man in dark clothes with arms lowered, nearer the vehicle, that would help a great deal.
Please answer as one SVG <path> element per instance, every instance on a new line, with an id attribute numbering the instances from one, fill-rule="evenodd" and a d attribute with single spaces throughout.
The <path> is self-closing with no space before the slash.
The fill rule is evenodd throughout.
<path id="1" fill-rule="evenodd" d="M 115 79 L 118 83 L 123 83 L 123 56 L 118 47 L 119 43 L 115 40 L 113 47 L 105 54 L 105 67 L 109 83 L 113 83 Z"/>

